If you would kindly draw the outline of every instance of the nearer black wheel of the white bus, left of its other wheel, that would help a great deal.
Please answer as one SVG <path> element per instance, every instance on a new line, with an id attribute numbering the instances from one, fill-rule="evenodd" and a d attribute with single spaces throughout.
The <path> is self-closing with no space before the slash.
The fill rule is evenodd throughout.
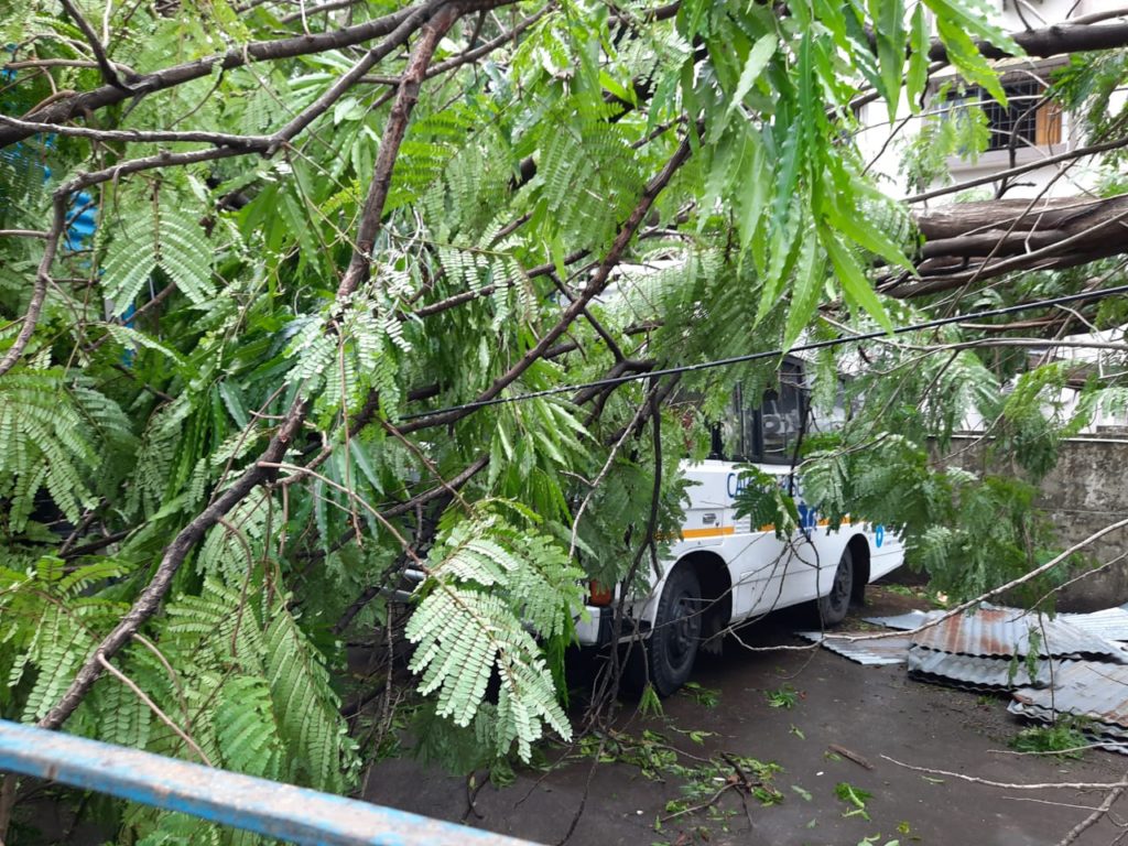
<path id="1" fill-rule="evenodd" d="M 694 669 L 702 634 L 702 587 L 687 566 L 666 580 L 650 641 L 642 644 L 650 684 L 659 696 L 677 693 Z"/>

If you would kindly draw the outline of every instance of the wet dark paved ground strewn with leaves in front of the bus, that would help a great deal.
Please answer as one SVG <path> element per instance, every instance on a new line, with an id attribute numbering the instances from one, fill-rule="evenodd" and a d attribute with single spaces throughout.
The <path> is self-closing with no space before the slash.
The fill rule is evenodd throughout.
<path id="1" fill-rule="evenodd" d="M 871 596 L 867 614 L 919 606 L 888 591 Z M 784 613 L 743 635 L 751 645 L 794 645 L 800 642 L 790 632 L 796 625 L 794 615 Z M 1086 808 L 1100 804 L 1102 794 L 987 787 L 906 769 L 885 756 L 1015 784 L 1111 782 L 1128 770 L 1128 758 L 1109 752 L 1068 761 L 999 754 L 1020 728 L 1004 700 L 910 681 L 904 667 L 861 667 L 823 650 L 752 652 L 726 645 L 725 653 L 699 666 L 695 680 L 705 694 L 672 697 L 660 717 L 624 715 L 605 744 L 605 752 L 614 751 L 619 760 L 592 767 L 590 756 L 557 754 L 555 768 L 520 772 L 517 783 L 503 790 L 486 785 L 475 803 L 479 817 L 470 814 L 467 822 L 555 844 L 583 804 L 571 838 L 583 846 L 1056 844 L 1089 816 Z M 784 696 L 777 699 L 794 698 L 792 707 L 769 706 L 766 694 L 781 689 Z M 715 703 L 708 702 L 708 690 L 716 691 Z M 794 697 L 787 696 L 792 690 Z M 702 742 L 688 732 L 699 732 Z M 590 751 L 599 740 L 589 743 Z M 832 746 L 873 769 L 834 752 Z M 749 797 L 746 812 L 737 787 L 725 786 L 739 776 L 722 754 L 743 765 L 749 782 L 756 776 L 746 758 L 778 765 L 770 783 L 782 801 L 764 807 Z M 714 765 L 706 763 L 710 758 Z M 855 795 L 858 790 L 871 794 L 863 802 L 869 819 L 837 794 L 843 783 Z M 696 785 L 689 805 L 721 793 L 706 809 L 670 819 L 687 802 L 668 803 L 684 799 L 687 785 Z M 411 760 L 376 767 L 365 797 L 450 820 L 467 812 L 464 779 Z M 1119 834 L 1123 829 L 1104 820 L 1078 843 L 1110 844 Z"/>

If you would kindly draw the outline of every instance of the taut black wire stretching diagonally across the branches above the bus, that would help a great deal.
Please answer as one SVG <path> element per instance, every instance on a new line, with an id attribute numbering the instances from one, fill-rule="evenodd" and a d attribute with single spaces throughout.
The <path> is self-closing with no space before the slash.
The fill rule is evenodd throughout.
<path id="1" fill-rule="evenodd" d="M 1105 297 L 1112 297 L 1118 293 L 1128 293 L 1128 285 L 1117 285 L 1116 288 L 1105 288 L 1101 291 L 1090 291 L 1087 293 L 1070 293 L 1066 297 L 1056 297 L 1051 300 L 1038 300 L 1037 302 L 1026 302 L 1019 306 L 1006 306 L 1005 308 L 993 308 L 986 311 L 973 311 L 969 315 L 954 315 L 951 317 L 940 317 L 935 320 L 925 320 L 924 323 L 913 324 L 910 326 L 901 326 L 895 328 L 891 333 L 884 329 L 879 329 L 876 332 L 867 332 L 862 335 L 849 335 L 847 337 L 836 337 L 829 338 L 827 341 L 816 341 L 810 344 L 800 344 L 793 346 L 790 350 L 769 350 L 768 352 L 758 353 L 747 353 L 744 355 L 733 355 L 729 359 L 716 359 L 714 361 L 704 361 L 699 364 L 682 364 L 675 368 L 666 368 L 664 370 L 650 370 L 645 373 L 631 373 L 628 376 L 616 376 L 608 379 L 596 379 L 590 382 L 580 382 L 579 385 L 561 385 L 556 388 L 546 388 L 544 390 L 535 390 L 529 394 L 514 394 L 508 397 L 494 397 L 493 399 L 479 399 L 474 403 L 464 403 L 462 405 L 451 405 L 447 408 L 437 408 L 430 412 L 417 412 L 416 414 L 407 414 L 400 420 L 420 420 L 422 417 L 433 417 L 439 414 L 449 414 L 451 412 L 464 412 L 464 411 L 475 411 L 477 408 L 486 408 L 491 405 L 504 405 L 506 403 L 520 403 L 525 399 L 538 399 L 540 397 L 549 397 L 556 394 L 569 394 L 576 390 L 582 390 L 584 388 L 609 388 L 616 385 L 625 385 L 626 382 L 641 381 L 643 379 L 654 379 L 662 376 L 676 376 L 678 373 L 689 373 L 697 370 L 711 370 L 713 368 L 723 368 L 731 364 L 742 364 L 747 361 L 759 361 L 760 359 L 774 359 L 786 353 L 795 352 L 810 352 L 812 350 L 826 350 L 829 346 L 841 346 L 843 344 L 853 344 L 858 341 L 873 341 L 875 338 L 889 337 L 890 335 L 904 335 L 908 332 L 920 332 L 922 329 L 934 329 L 938 326 L 946 326 L 953 323 L 960 323 L 961 320 L 979 320 L 985 317 L 1002 317 L 1003 315 L 1014 315 L 1020 311 L 1030 311 L 1036 308 L 1046 308 L 1047 306 L 1060 306 L 1066 302 L 1076 302 L 1077 300 L 1100 300 Z"/>

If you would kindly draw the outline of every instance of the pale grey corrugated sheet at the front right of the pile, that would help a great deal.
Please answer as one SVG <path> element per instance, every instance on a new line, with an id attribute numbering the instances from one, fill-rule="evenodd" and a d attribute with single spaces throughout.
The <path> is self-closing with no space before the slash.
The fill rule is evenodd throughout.
<path id="1" fill-rule="evenodd" d="M 1128 667 L 1069 661 L 1056 668 L 1052 691 L 1021 688 L 1013 696 L 1030 715 L 1056 710 L 1059 714 L 1089 717 L 1128 735 Z"/>

